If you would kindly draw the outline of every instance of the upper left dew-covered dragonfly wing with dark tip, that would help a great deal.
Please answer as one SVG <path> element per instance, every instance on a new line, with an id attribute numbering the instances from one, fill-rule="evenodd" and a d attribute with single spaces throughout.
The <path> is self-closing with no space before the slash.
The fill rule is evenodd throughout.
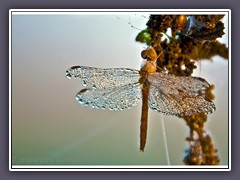
<path id="1" fill-rule="evenodd" d="M 129 68 L 73 66 L 66 71 L 66 76 L 69 79 L 81 79 L 88 88 L 106 89 L 138 82 L 139 71 Z"/>

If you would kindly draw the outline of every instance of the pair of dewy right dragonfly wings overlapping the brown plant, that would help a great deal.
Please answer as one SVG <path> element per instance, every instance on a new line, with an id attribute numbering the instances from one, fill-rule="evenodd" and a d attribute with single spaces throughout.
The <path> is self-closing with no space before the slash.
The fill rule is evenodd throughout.
<path id="1" fill-rule="evenodd" d="M 150 87 L 149 107 L 158 112 L 176 116 L 194 113 L 212 113 L 216 107 L 200 92 L 209 84 L 196 77 L 178 77 L 165 73 L 153 73 L 148 78 Z"/>

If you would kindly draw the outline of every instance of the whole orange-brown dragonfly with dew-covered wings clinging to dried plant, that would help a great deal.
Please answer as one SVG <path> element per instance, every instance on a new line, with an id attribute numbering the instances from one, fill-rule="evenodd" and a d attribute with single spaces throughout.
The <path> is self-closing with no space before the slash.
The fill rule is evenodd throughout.
<path id="1" fill-rule="evenodd" d="M 73 66 L 67 69 L 66 77 L 80 79 L 86 86 L 76 95 L 76 100 L 86 107 L 119 111 L 137 105 L 142 99 L 140 151 L 143 152 L 149 108 L 165 115 L 183 117 L 202 112 L 210 114 L 216 107 L 203 96 L 210 87 L 205 79 L 157 72 L 159 55 L 152 47 L 143 50 L 142 57 L 145 62 L 140 71 Z"/>

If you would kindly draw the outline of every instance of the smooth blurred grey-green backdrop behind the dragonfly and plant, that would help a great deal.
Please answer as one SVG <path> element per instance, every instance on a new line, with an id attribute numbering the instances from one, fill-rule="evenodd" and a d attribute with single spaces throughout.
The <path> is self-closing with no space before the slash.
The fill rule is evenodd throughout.
<path id="1" fill-rule="evenodd" d="M 135 42 L 148 14 L 12 15 L 13 165 L 166 165 L 162 121 L 171 165 L 182 165 L 189 129 L 182 119 L 150 110 L 145 152 L 139 152 L 141 103 L 119 112 L 83 107 L 83 88 L 71 66 L 140 69 Z M 228 43 L 228 17 L 225 35 Z M 130 22 L 130 24 L 129 24 Z M 134 26 L 134 27 L 131 27 Z M 201 61 L 195 76 L 215 84 L 217 110 L 205 129 L 221 165 L 228 164 L 228 60 Z"/>

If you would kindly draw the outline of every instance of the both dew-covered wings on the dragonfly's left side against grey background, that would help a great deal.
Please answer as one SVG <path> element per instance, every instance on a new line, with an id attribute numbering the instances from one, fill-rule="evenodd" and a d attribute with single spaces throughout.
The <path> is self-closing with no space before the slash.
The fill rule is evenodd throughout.
<path id="1" fill-rule="evenodd" d="M 141 97 L 139 71 L 134 69 L 74 66 L 67 70 L 67 76 L 85 82 L 87 88 L 76 100 L 87 107 L 124 110 L 137 105 Z"/>

